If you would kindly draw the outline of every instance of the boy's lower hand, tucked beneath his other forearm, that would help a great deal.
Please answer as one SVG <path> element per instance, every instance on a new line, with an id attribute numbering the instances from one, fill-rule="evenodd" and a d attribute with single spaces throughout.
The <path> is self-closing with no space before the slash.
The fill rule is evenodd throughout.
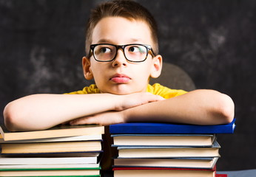
<path id="1" fill-rule="evenodd" d="M 70 121 L 70 125 L 85 125 L 85 124 L 98 124 L 98 125 L 111 125 L 116 123 L 123 123 L 124 117 L 122 111 L 108 111 L 100 114 L 95 114 L 88 117 L 81 117 Z"/>

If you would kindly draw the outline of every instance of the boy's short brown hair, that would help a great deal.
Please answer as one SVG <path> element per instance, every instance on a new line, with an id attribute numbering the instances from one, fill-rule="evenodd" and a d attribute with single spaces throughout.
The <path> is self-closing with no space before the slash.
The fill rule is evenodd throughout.
<path id="1" fill-rule="evenodd" d="M 108 1 L 103 4 L 99 4 L 98 7 L 95 7 L 92 10 L 90 18 L 87 23 L 87 32 L 86 32 L 86 43 L 85 51 L 87 52 L 87 57 L 90 55 L 90 45 L 92 44 L 92 31 L 95 28 L 96 24 L 101 21 L 104 17 L 124 17 L 132 18 L 135 20 L 145 21 L 149 25 L 151 30 L 153 50 L 155 55 L 158 55 L 158 27 L 155 21 L 155 18 L 146 10 L 145 7 L 141 6 L 135 1 L 130 0 L 114 0 Z"/>

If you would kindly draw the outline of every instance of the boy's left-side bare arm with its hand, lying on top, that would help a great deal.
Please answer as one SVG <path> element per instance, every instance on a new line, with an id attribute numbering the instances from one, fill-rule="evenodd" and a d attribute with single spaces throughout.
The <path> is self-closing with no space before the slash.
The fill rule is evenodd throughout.
<path id="1" fill-rule="evenodd" d="M 121 111 L 158 100 L 164 99 L 149 93 L 34 94 L 6 105 L 4 123 L 10 131 L 43 130 L 78 117 Z"/>

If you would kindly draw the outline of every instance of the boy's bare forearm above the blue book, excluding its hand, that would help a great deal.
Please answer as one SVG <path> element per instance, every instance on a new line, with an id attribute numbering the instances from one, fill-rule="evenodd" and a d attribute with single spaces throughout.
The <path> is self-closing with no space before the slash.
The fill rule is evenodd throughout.
<path id="1" fill-rule="evenodd" d="M 234 103 L 218 91 L 197 90 L 124 111 L 125 122 L 178 122 L 215 125 L 231 122 Z"/>

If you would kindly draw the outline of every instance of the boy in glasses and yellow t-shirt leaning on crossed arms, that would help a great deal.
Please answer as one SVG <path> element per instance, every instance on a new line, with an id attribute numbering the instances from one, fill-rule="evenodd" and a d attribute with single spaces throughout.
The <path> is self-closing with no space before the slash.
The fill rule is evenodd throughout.
<path id="1" fill-rule="evenodd" d="M 155 20 L 134 1 L 96 7 L 87 25 L 84 77 L 95 85 L 71 94 L 35 94 L 4 108 L 10 131 L 33 131 L 60 123 L 110 125 L 121 122 L 223 124 L 234 103 L 213 90 L 172 90 L 149 85 L 161 74 Z"/>

